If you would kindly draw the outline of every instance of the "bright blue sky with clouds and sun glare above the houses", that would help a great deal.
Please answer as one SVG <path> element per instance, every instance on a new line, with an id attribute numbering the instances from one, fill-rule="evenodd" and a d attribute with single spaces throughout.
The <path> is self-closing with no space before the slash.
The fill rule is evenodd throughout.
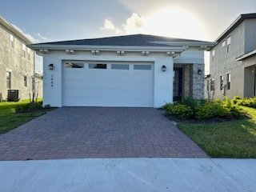
<path id="1" fill-rule="evenodd" d="M 0 0 L 0 15 L 33 42 L 155 34 L 213 42 L 256 0 Z M 36 58 L 42 71 L 42 58 Z M 206 73 L 209 59 L 206 53 Z"/>

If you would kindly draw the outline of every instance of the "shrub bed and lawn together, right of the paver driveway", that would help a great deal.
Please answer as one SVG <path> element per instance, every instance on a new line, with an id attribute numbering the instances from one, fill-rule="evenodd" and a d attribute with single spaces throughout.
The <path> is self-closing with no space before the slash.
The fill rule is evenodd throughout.
<path id="1" fill-rule="evenodd" d="M 178 122 L 178 128 L 210 157 L 256 158 L 256 109 L 248 107 L 248 103 L 254 106 L 251 101 L 254 98 L 190 100 L 163 108 L 166 116 Z"/>

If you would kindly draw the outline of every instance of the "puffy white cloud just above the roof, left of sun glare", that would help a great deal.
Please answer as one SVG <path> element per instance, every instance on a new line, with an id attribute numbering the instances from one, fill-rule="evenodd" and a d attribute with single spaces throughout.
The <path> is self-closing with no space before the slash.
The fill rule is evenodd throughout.
<path id="1" fill-rule="evenodd" d="M 137 30 L 141 30 L 143 26 L 144 18 L 133 13 L 121 26 L 116 26 L 110 19 L 105 18 L 103 26 L 100 29 L 114 31 L 115 34 L 131 34 Z"/>

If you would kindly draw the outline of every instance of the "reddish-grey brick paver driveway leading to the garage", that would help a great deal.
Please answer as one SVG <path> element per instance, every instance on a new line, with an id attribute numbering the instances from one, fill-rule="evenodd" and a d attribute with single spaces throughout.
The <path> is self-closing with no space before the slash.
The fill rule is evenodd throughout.
<path id="1" fill-rule="evenodd" d="M 153 108 L 62 107 L 0 135 L 0 160 L 123 157 L 207 155 Z"/>

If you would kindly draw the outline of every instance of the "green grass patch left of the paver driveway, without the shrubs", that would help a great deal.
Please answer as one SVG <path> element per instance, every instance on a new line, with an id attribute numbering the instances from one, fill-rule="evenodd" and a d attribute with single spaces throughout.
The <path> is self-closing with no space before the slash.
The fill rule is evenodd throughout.
<path id="1" fill-rule="evenodd" d="M 45 111 L 39 111 L 15 114 L 15 106 L 25 105 L 28 102 L 29 100 L 23 100 L 21 102 L 0 102 L 0 134 L 13 130 L 23 123 L 29 122 L 31 119 L 46 113 Z"/>

